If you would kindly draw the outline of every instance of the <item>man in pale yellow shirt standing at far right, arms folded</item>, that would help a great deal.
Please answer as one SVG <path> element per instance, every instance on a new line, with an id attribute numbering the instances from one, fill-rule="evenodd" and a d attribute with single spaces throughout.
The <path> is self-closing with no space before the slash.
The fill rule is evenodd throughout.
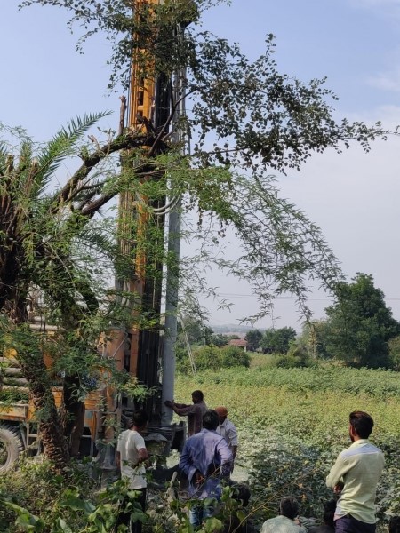
<path id="1" fill-rule="evenodd" d="M 350 413 L 348 434 L 353 443 L 340 453 L 326 478 L 326 485 L 340 495 L 334 514 L 336 533 L 376 531 L 376 488 L 385 458 L 368 440 L 372 427 L 368 413 Z"/>

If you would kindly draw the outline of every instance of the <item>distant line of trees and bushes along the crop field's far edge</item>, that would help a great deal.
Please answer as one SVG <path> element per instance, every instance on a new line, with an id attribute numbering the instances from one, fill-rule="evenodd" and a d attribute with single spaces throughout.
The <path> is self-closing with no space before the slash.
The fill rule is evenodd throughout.
<path id="1" fill-rule="evenodd" d="M 245 335 L 247 349 L 280 354 L 284 356 L 281 366 L 305 366 L 332 359 L 356 368 L 400 370 L 400 322 L 386 305 L 382 290 L 374 286 L 372 275 L 357 273 L 351 282 L 340 282 L 336 295 L 335 303 L 325 309 L 326 319 L 307 322 L 300 335 L 291 327 L 249 330 Z M 221 348 L 238 338 L 214 334 L 212 328 L 196 319 L 187 319 L 185 330 L 195 347 Z M 177 349 L 179 352 L 180 347 Z M 201 354 L 201 366 L 207 354 Z"/>

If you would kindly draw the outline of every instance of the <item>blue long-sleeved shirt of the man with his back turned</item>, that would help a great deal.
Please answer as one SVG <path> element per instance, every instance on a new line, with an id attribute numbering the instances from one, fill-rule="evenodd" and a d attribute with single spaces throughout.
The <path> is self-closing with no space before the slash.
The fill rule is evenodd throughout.
<path id="1" fill-rule="evenodd" d="M 229 475 L 231 464 L 232 453 L 228 443 L 215 431 L 202 429 L 188 438 L 180 454 L 180 469 L 188 476 L 189 496 L 197 499 L 220 498 L 220 477 Z M 218 468 L 220 472 L 213 473 Z M 205 479 L 201 486 L 196 486 L 194 482 L 197 470 Z"/>

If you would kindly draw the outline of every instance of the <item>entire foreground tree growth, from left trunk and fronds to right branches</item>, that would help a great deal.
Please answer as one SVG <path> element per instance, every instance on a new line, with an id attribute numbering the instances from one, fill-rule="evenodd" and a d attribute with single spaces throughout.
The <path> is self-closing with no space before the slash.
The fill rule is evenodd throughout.
<path id="1" fill-rule="evenodd" d="M 332 289 L 340 279 L 340 267 L 320 230 L 279 197 L 270 171 L 299 168 L 314 152 L 327 147 L 340 151 L 351 139 L 369 149 L 369 141 L 384 132 L 380 123 L 372 128 L 347 120 L 336 123 L 326 102 L 336 97 L 324 88 L 324 80 L 303 84 L 278 72 L 272 36 L 268 36 L 266 52 L 251 62 L 236 44 L 199 28 L 201 13 L 215 4 L 212 0 L 141 3 L 134 16 L 132 3 L 125 0 L 22 2 L 23 6 L 31 4 L 72 12 L 71 24 L 87 30 L 83 40 L 98 31 L 106 34 L 114 46 L 112 86 L 118 81 L 129 85 L 132 51 L 139 51 L 135 55 L 138 78 L 157 78 L 164 94 L 171 95 L 171 76 L 180 72 L 185 89 L 178 100 L 169 99 L 164 123 L 144 120 L 140 131 L 125 130 L 122 114 L 117 135 L 110 134 L 102 145 L 91 137 L 91 143 L 77 146 L 98 118 L 88 116 L 60 130 L 38 151 L 28 138 L 21 139 L 19 155 L 10 155 L 8 145 L 0 149 L 4 342 L 12 331 L 20 336 L 20 361 L 37 407 L 52 413 L 49 425 L 41 425 L 46 435 L 44 449 L 62 467 L 68 454 L 60 444 L 60 425 L 49 383 L 43 378 L 39 348 L 44 340 L 24 327 L 32 290 L 43 293 L 49 320 L 60 325 L 60 337 L 68 340 L 72 371 L 66 386 L 70 395 L 81 383 L 74 369 L 76 365 L 81 369 L 87 361 L 81 353 L 92 354 L 94 331 L 115 321 L 124 324 L 127 316 L 132 320 L 133 311 L 142 330 L 159 328 L 160 317 L 146 302 L 132 301 L 132 294 L 121 290 L 108 293 L 99 279 L 105 281 L 113 274 L 132 279 L 136 254 L 144 253 L 149 258 L 146 275 L 160 287 L 162 267 L 173 263 L 164 251 L 165 198 L 182 197 L 182 211 L 198 212 L 197 227 L 189 238 L 202 242 L 197 257 L 174 265 L 188 292 L 204 288 L 198 266 L 213 260 L 252 284 L 260 298 L 260 311 L 253 318 L 268 314 L 273 298 L 287 291 L 297 297 L 307 317 L 308 278 L 317 277 Z M 189 21 L 194 23 L 185 32 L 177 31 Z M 179 114 L 183 98 L 190 99 L 190 115 Z M 192 132 L 192 155 L 182 155 L 181 141 L 173 135 L 177 130 Z M 118 153 L 123 155 L 121 167 L 111 157 Z M 69 156 L 80 160 L 77 171 L 52 189 L 54 172 Z M 100 168 L 103 163 L 107 166 Z M 109 221 L 108 227 L 100 224 L 96 213 L 124 191 L 135 199 L 127 210 L 133 216 L 117 229 Z M 146 227 L 140 231 L 135 212 L 146 213 Z M 239 257 L 232 261 L 223 254 L 215 258 L 210 248 L 220 243 L 227 227 L 234 229 L 242 243 Z M 117 245 L 121 240 L 129 243 L 126 254 Z M 108 274 L 107 267 L 99 273 L 102 263 L 110 267 Z M 94 364 L 95 354 L 91 356 Z M 33 372 L 33 368 L 40 371 Z"/>

